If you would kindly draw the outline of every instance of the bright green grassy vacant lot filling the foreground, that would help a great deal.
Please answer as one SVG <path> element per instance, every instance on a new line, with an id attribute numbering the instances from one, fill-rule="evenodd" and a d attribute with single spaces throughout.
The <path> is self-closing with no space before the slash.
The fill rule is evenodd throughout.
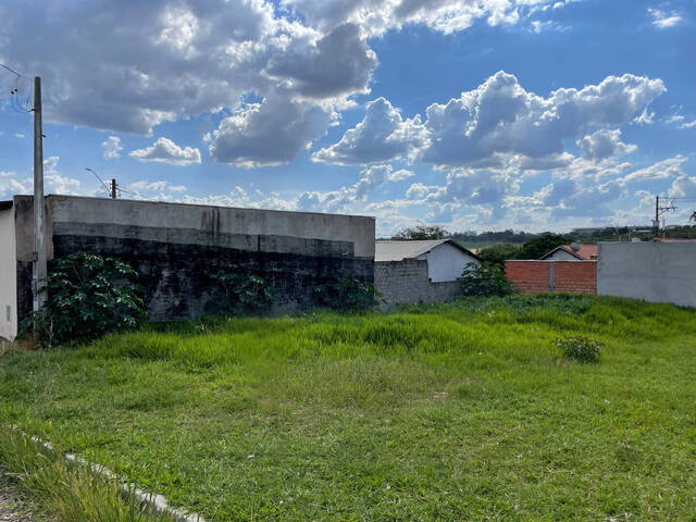
<path id="1" fill-rule="evenodd" d="M 695 382 L 693 310 L 518 296 L 9 353 L 0 419 L 213 521 L 696 520 Z"/>

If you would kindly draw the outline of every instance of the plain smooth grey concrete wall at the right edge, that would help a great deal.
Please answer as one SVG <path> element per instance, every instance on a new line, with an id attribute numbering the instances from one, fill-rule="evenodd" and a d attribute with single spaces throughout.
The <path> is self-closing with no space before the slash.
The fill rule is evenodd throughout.
<path id="1" fill-rule="evenodd" d="M 600 243 L 597 293 L 696 307 L 696 243 Z"/>

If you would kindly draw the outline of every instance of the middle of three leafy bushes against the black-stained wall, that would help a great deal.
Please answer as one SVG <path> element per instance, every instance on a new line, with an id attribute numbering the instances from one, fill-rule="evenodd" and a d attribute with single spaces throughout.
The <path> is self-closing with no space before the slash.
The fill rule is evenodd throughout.
<path id="1" fill-rule="evenodd" d="M 229 315 L 260 315 L 273 306 L 277 290 L 259 275 L 220 272 L 212 274 L 213 299 L 209 310 Z"/>

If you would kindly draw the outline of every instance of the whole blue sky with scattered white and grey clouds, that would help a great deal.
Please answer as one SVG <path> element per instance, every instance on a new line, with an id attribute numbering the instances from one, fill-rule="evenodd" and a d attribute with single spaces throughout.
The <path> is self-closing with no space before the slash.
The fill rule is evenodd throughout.
<path id="1" fill-rule="evenodd" d="M 24 76 L 0 69 L 0 199 L 33 189 L 37 75 L 48 194 L 115 178 L 378 235 L 648 225 L 656 196 L 696 199 L 694 0 L 3 0 L 0 20 Z M 676 207 L 667 224 L 696 201 Z"/>

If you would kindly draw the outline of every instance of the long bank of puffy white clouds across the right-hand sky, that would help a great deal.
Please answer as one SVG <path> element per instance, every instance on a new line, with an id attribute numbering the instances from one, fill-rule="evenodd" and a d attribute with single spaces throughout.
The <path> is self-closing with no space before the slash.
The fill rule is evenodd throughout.
<path id="1" fill-rule="evenodd" d="M 629 123 L 664 90 L 661 79 L 625 74 L 543 98 L 500 71 L 459 98 L 431 104 L 423 123 L 418 115 L 403 121 L 386 100 L 375 100 L 360 124 L 314 159 L 345 164 L 406 154 L 442 169 L 521 163 L 533 169 L 568 161 L 564 139 Z"/>

